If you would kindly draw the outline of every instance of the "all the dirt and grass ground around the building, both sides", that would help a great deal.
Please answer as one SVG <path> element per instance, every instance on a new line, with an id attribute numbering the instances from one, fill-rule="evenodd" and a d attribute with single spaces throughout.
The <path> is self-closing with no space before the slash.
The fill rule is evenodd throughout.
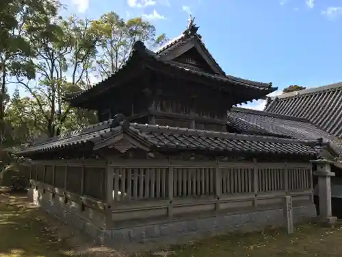
<path id="1" fill-rule="evenodd" d="M 291 236 L 269 228 L 263 232 L 215 236 L 134 256 L 340 257 L 341 242 L 342 224 L 333 228 L 305 224 L 298 225 Z M 23 256 L 127 257 L 127 254 L 94 245 L 62 221 L 31 206 L 25 195 L 13 195 L 0 188 L 0 257 Z"/>

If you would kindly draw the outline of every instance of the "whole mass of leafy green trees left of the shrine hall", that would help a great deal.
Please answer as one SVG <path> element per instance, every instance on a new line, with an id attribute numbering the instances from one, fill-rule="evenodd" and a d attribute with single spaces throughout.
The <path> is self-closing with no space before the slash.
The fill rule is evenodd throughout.
<path id="1" fill-rule="evenodd" d="M 137 40 L 160 45 L 155 27 L 141 18 L 124 21 L 116 12 L 97 20 L 58 16 L 58 0 L 0 3 L 0 136 L 8 147 L 56 136 L 96 123 L 92 110 L 70 108 L 63 98 L 89 88 L 127 60 Z M 8 97 L 15 82 L 25 90 Z M 2 108 L 1 108 L 2 106 Z"/>

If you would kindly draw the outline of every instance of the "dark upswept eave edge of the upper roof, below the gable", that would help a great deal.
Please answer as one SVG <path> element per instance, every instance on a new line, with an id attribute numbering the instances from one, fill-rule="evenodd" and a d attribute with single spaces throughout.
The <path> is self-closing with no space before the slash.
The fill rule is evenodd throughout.
<path id="1" fill-rule="evenodd" d="M 187 69 L 184 66 L 179 66 L 169 61 L 159 60 L 159 58 L 155 56 L 155 53 L 146 49 L 144 43 L 138 41 L 135 42 L 131 56 L 127 60 L 126 64 L 116 71 L 116 73 L 103 80 L 103 82 L 99 82 L 92 88 L 84 90 L 77 95 L 69 95 L 65 97 L 65 99 L 70 101 L 71 106 L 79 107 L 82 102 L 88 101 L 88 99 L 94 98 L 96 95 L 102 94 L 105 91 L 116 87 L 118 84 L 124 83 L 124 81 L 129 81 L 129 79 L 132 79 L 132 76 L 142 74 L 142 71 L 146 68 L 161 73 L 167 73 L 168 75 L 172 73 L 175 76 L 177 74 L 183 74 L 185 77 L 192 76 L 193 78 L 202 79 L 202 82 L 207 82 L 211 84 L 211 86 L 220 84 L 220 87 L 222 89 L 226 87 L 226 90 L 230 90 L 228 88 L 230 88 L 229 85 L 232 84 L 235 86 L 244 86 L 246 90 L 254 91 L 255 95 L 255 97 L 250 97 L 246 99 L 246 101 L 258 99 L 259 97 L 263 97 L 264 95 L 277 90 L 277 88 L 272 87 L 272 84 L 261 84 L 260 82 L 252 82 L 247 79 L 239 79 L 233 76 L 213 75 L 210 73 Z"/>

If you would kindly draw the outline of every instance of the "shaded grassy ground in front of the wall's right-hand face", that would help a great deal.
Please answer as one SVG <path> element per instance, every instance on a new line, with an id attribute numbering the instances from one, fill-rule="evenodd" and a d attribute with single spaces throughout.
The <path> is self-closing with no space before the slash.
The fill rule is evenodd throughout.
<path id="1" fill-rule="evenodd" d="M 341 224 L 334 228 L 321 228 L 317 224 L 306 223 L 296 226 L 295 233 L 291 235 L 274 228 L 246 234 L 223 234 L 144 254 L 144 257 L 340 257 L 341 241 Z"/>

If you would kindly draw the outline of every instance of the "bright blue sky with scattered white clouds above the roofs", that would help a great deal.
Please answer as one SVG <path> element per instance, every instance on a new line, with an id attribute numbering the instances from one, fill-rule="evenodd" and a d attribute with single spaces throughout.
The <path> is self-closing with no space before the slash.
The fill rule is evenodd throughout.
<path id="1" fill-rule="evenodd" d="M 342 0 L 64 0 L 67 14 L 143 16 L 169 38 L 189 14 L 229 74 L 282 89 L 342 81 Z M 341 16 L 341 17 L 340 17 Z M 261 108 L 262 101 L 249 104 Z"/>

